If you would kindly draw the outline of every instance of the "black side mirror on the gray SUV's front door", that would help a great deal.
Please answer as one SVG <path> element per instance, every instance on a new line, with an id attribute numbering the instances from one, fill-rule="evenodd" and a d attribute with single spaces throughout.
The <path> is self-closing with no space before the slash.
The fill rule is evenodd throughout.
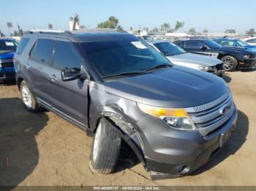
<path id="1" fill-rule="evenodd" d="M 80 69 L 63 69 L 61 71 L 61 79 L 62 81 L 71 81 L 75 79 L 86 79 L 86 74 L 82 74 Z"/>

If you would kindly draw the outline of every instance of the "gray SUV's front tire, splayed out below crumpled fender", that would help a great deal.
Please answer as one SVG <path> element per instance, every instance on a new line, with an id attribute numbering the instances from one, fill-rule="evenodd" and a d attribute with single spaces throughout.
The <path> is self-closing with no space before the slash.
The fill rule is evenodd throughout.
<path id="1" fill-rule="evenodd" d="M 110 174 L 116 167 L 121 137 L 105 118 L 99 121 L 91 147 L 89 168 L 95 174 Z"/>

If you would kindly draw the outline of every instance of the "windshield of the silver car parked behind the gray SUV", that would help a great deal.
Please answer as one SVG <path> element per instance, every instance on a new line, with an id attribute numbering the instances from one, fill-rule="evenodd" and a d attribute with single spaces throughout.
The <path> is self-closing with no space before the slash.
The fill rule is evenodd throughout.
<path id="1" fill-rule="evenodd" d="M 166 56 L 180 55 L 180 54 L 186 53 L 185 50 L 181 49 L 180 47 L 170 42 L 159 42 L 154 44 L 154 46 L 157 47 L 157 49 L 163 52 L 164 55 Z"/>

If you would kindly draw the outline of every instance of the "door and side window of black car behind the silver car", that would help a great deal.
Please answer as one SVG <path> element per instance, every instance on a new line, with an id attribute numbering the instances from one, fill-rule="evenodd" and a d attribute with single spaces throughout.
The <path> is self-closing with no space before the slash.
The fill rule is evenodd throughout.
<path id="1" fill-rule="evenodd" d="M 203 47 L 206 49 L 203 50 Z M 211 56 L 211 50 L 209 47 L 206 46 L 203 42 L 197 41 L 197 40 L 189 40 L 184 42 L 184 50 L 187 52 L 193 52 L 200 55 L 210 55 Z"/>

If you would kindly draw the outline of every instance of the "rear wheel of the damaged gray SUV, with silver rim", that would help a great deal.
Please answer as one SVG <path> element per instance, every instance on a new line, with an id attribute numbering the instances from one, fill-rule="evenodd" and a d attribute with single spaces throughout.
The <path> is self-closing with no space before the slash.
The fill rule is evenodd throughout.
<path id="1" fill-rule="evenodd" d="M 20 83 L 20 96 L 24 106 L 29 112 L 39 112 L 41 107 L 37 104 L 34 95 L 31 93 L 25 81 Z"/>

